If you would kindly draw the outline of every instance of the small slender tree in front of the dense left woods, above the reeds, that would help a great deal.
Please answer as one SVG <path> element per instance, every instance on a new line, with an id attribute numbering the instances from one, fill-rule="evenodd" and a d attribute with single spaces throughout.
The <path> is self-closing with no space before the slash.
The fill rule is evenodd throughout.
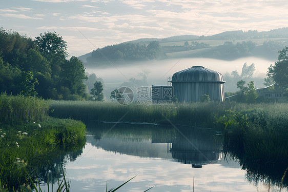
<path id="1" fill-rule="evenodd" d="M 20 94 L 24 96 L 36 96 L 38 93 L 35 91 L 34 86 L 38 84 L 38 80 L 33 77 L 32 71 L 22 72 L 22 82 L 21 87 L 22 91 Z"/>

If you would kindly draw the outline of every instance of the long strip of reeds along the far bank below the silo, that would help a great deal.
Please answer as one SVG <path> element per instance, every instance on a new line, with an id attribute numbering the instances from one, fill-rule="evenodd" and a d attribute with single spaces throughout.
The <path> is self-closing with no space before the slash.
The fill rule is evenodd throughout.
<path id="1" fill-rule="evenodd" d="M 129 121 L 221 127 L 227 111 L 246 115 L 257 126 L 287 126 L 288 104 L 189 103 L 173 105 L 119 105 L 114 102 L 53 101 L 51 116 L 77 120 Z M 226 115 L 226 116 L 225 116 Z M 217 122 L 220 124 L 215 124 Z"/>

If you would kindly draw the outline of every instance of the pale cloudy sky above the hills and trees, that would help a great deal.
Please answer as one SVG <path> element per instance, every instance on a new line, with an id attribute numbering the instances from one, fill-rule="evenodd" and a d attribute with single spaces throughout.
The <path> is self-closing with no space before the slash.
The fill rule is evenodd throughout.
<path id="1" fill-rule="evenodd" d="M 0 27 L 56 32 L 70 56 L 140 38 L 288 27 L 286 0 L 0 0 Z"/>

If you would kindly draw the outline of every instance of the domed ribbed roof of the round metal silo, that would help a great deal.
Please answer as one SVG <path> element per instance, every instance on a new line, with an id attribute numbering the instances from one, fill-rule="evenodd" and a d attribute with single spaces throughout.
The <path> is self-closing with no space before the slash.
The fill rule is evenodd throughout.
<path id="1" fill-rule="evenodd" d="M 173 82 L 223 82 L 223 75 L 217 71 L 202 66 L 193 66 L 176 72 L 172 76 Z"/>

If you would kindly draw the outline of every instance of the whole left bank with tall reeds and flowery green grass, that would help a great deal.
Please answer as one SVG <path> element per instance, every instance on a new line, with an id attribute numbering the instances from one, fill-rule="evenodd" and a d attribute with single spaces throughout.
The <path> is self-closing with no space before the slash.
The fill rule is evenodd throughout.
<path id="1" fill-rule="evenodd" d="M 75 159 L 85 146 L 85 124 L 49 117 L 49 104 L 33 97 L 0 95 L 0 181 L 9 190 L 29 183 L 28 174 L 34 181 L 47 181 L 48 172 L 57 178 L 62 170 L 55 164 L 63 163 L 67 154 Z"/>

